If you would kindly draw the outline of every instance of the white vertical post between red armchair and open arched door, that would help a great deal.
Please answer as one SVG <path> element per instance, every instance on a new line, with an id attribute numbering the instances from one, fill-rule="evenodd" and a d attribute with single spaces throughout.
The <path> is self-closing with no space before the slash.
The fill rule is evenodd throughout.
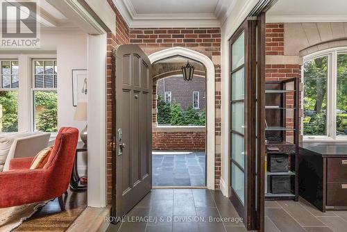
<path id="1" fill-rule="evenodd" d="M 107 36 L 87 35 L 88 190 L 87 205 L 106 206 L 106 47 Z"/>

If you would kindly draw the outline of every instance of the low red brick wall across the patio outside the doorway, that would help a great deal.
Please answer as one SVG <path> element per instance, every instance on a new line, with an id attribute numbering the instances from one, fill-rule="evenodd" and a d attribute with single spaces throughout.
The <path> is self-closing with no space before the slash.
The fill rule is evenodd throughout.
<path id="1" fill-rule="evenodd" d="M 205 132 L 153 132 L 152 149 L 205 151 Z"/>

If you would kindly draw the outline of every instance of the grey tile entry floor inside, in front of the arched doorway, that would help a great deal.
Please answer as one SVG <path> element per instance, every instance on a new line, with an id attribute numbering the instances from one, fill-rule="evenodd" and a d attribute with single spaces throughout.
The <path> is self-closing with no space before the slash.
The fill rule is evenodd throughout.
<path id="1" fill-rule="evenodd" d="M 226 232 L 246 231 L 243 222 L 221 191 L 205 189 L 156 189 L 128 213 L 128 220 L 110 224 L 108 232 Z M 164 222 L 130 222 L 148 216 Z M 126 217 L 127 218 L 127 217 Z M 228 218 L 229 222 L 217 219 Z M 170 220 L 172 219 L 172 221 Z M 193 222 L 187 222 L 191 219 Z M 214 222 L 213 222 L 214 219 Z"/>

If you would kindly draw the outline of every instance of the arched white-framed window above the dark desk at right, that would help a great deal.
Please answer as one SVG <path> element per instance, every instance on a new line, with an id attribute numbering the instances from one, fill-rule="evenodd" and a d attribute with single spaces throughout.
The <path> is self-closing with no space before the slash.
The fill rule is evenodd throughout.
<path id="1" fill-rule="evenodd" d="M 303 66 L 305 140 L 347 140 L 347 49 L 305 57 Z"/>

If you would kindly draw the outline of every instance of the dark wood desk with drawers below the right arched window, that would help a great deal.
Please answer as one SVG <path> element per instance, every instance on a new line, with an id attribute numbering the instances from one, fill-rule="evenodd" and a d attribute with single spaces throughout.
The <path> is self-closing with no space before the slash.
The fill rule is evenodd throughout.
<path id="1" fill-rule="evenodd" d="M 300 196 L 323 212 L 346 210 L 347 144 L 301 144 L 298 185 Z"/>

